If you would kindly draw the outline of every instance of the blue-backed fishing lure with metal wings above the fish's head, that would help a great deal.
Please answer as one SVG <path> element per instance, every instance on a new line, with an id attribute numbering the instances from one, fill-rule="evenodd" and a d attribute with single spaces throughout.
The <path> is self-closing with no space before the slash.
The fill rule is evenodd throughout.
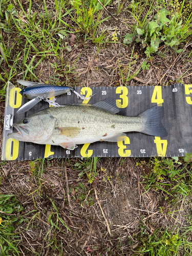
<path id="1" fill-rule="evenodd" d="M 42 84 L 39 82 L 30 82 L 25 80 L 17 80 L 18 83 L 22 84 L 23 86 L 27 87 L 20 91 L 19 93 L 27 98 L 30 99 L 26 104 L 24 104 L 18 111 L 18 114 L 24 113 L 34 105 L 36 105 L 39 101 L 45 100 L 49 102 L 50 105 L 53 106 L 60 106 L 58 103 L 54 102 L 54 100 L 49 100 L 48 98 L 56 97 L 61 94 L 68 93 L 70 91 L 74 92 L 78 98 L 87 99 L 86 97 L 81 96 L 72 88 L 69 87 L 61 87 L 61 86 L 54 86 L 53 84 Z"/>

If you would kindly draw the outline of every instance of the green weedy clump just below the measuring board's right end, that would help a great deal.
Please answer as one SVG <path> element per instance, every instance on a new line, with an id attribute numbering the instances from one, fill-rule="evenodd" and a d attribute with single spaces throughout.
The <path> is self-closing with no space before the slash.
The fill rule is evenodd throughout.
<path id="1" fill-rule="evenodd" d="M 145 193 L 150 189 L 155 189 L 157 193 L 164 191 L 168 204 L 180 201 L 181 198 L 178 195 L 184 200 L 189 200 L 188 197 L 192 196 L 192 175 L 187 164 L 181 164 L 176 158 L 155 158 L 149 163 L 153 171 L 150 175 L 142 176 Z"/>

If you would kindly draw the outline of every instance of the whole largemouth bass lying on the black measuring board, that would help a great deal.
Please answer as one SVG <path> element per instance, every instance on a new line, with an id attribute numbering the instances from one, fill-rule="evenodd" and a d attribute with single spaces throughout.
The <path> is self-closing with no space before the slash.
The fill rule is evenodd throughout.
<path id="1" fill-rule="evenodd" d="M 59 145 L 68 150 L 96 141 L 124 141 L 125 132 L 167 136 L 161 123 L 163 106 L 153 106 L 135 117 L 115 115 L 119 111 L 109 101 L 52 107 L 13 124 L 18 132 L 8 136 L 19 141 Z"/>

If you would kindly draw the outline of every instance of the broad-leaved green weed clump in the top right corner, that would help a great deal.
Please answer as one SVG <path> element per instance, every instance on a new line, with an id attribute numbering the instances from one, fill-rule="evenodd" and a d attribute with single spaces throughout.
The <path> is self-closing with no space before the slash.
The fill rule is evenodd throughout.
<path id="1" fill-rule="evenodd" d="M 145 5 L 138 11 L 138 2 L 132 1 L 131 14 L 136 20 L 136 24 L 132 27 L 133 33 L 128 33 L 125 36 L 124 44 L 129 45 L 133 41 L 141 44 L 148 59 L 152 58 L 153 53 L 159 53 L 160 46 L 169 46 L 177 53 L 183 51 L 182 48 L 178 49 L 178 46 L 181 42 L 186 41 L 192 33 L 192 12 L 188 13 L 185 20 L 182 19 L 184 3 L 185 0 L 181 4 L 179 12 L 168 11 L 170 9 L 165 6 L 154 13 L 153 2 L 150 7 L 145 2 Z"/>

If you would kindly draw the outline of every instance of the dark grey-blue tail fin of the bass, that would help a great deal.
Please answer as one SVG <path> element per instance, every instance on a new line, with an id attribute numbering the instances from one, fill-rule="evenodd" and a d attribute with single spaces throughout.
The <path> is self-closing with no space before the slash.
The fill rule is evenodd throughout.
<path id="1" fill-rule="evenodd" d="M 157 137 L 166 137 L 167 131 L 162 124 L 162 118 L 164 116 L 163 106 L 153 106 L 151 109 L 148 109 L 141 113 L 139 117 L 143 119 L 144 125 L 141 133 L 157 136 Z"/>

